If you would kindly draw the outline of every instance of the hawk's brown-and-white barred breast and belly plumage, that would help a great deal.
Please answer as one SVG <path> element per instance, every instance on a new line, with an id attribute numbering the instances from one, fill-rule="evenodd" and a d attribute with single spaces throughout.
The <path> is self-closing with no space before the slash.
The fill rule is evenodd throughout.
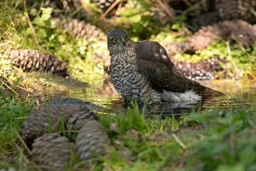
<path id="1" fill-rule="evenodd" d="M 150 82 L 147 81 L 145 76 L 138 73 L 136 53 L 132 48 L 111 55 L 110 69 L 113 86 L 127 100 L 135 98 L 144 101 L 145 98 L 148 98 L 152 99 L 150 103 L 160 102 L 160 93 L 151 88 Z"/>

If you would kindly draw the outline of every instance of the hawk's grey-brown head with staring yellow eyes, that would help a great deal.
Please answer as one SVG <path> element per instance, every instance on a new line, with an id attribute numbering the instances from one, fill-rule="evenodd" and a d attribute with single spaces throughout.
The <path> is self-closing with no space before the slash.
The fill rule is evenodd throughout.
<path id="1" fill-rule="evenodd" d="M 130 42 L 131 40 L 126 31 L 122 29 L 116 29 L 108 33 L 108 51 L 111 53 L 126 51 L 130 46 Z"/>

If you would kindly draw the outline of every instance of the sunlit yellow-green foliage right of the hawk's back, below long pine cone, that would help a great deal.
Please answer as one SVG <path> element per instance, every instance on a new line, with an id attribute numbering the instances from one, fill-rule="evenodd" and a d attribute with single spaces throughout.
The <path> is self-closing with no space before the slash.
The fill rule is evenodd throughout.
<path id="1" fill-rule="evenodd" d="M 218 56 L 220 58 L 225 58 L 227 63 L 221 63 L 220 65 L 223 69 L 228 71 L 230 77 L 244 77 L 250 76 L 250 68 L 255 70 L 256 63 L 256 48 L 255 44 L 252 48 L 230 48 L 229 43 L 226 41 L 216 41 L 215 43 L 209 45 L 204 50 L 195 51 L 195 54 L 176 54 L 174 58 L 183 58 L 185 60 L 191 60 L 195 63 L 202 59 L 213 58 Z"/>

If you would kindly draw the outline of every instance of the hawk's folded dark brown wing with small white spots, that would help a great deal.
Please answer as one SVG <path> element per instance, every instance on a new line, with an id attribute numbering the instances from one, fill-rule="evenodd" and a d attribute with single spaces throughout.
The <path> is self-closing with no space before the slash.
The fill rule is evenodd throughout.
<path id="1" fill-rule="evenodd" d="M 204 86 L 183 76 L 168 57 L 165 48 L 156 41 L 135 43 L 138 73 L 146 76 L 153 88 L 160 92 L 170 90 L 184 93 L 193 89 L 196 92 L 205 90 Z"/>

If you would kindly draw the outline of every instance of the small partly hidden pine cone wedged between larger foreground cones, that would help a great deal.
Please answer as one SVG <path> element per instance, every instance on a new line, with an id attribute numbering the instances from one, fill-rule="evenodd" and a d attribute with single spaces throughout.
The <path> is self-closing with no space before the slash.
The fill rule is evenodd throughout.
<path id="1" fill-rule="evenodd" d="M 67 130 L 80 130 L 87 120 L 98 120 L 98 117 L 93 112 L 81 111 L 73 114 L 71 118 L 68 119 L 66 125 Z"/>

